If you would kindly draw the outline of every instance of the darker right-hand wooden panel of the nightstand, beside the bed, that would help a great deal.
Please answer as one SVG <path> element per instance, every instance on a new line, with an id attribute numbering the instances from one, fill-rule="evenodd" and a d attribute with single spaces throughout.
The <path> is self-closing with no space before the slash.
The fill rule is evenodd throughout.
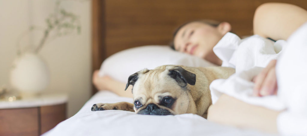
<path id="1" fill-rule="evenodd" d="M 40 107 L 41 134 L 51 130 L 66 119 L 66 103 Z"/>

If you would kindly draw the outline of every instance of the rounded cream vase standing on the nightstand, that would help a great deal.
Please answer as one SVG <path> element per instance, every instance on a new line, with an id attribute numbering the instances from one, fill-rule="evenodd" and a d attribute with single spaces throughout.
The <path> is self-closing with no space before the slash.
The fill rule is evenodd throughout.
<path id="1" fill-rule="evenodd" d="M 49 69 L 38 54 L 24 53 L 13 62 L 10 83 L 22 97 L 35 96 L 48 86 Z"/>

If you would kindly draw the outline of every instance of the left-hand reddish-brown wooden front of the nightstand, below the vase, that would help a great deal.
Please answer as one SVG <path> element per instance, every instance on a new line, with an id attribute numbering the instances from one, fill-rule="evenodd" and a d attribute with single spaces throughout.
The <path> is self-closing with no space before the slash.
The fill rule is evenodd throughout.
<path id="1" fill-rule="evenodd" d="M 39 134 L 38 108 L 1 109 L 0 135 L 36 136 Z"/>

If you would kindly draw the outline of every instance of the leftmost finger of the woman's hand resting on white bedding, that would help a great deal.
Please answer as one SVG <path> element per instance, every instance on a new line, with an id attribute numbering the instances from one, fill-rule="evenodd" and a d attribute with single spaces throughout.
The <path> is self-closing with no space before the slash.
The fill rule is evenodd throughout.
<path id="1" fill-rule="evenodd" d="M 260 90 L 263 88 L 263 83 L 265 82 L 266 76 L 272 68 L 275 68 L 276 60 L 272 60 L 266 68 L 264 68 L 257 76 L 254 77 L 253 82 L 255 82 L 253 95 L 261 96 Z"/>

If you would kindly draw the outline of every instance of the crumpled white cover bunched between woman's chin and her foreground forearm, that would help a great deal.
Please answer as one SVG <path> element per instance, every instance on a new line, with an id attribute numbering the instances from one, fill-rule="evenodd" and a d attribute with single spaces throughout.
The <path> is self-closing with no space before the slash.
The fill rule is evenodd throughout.
<path id="1" fill-rule="evenodd" d="M 285 109 L 277 96 L 252 96 L 254 83 L 251 81 L 271 60 L 279 57 L 284 46 L 284 40 L 274 42 L 259 35 L 241 40 L 235 34 L 225 34 L 213 51 L 223 61 L 222 66 L 233 67 L 236 73 L 228 79 L 217 79 L 211 83 L 212 103 L 224 93 L 249 104 L 273 110 Z"/>

